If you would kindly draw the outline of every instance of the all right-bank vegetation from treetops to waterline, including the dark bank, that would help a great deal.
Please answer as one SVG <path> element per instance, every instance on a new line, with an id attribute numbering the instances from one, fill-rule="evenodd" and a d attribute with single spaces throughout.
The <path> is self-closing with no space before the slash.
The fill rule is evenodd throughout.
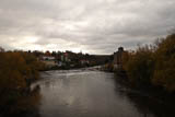
<path id="1" fill-rule="evenodd" d="M 112 60 L 102 70 L 115 72 L 126 86 L 175 104 L 175 33 L 154 44 L 139 46 L 136 51 L 125 51 L 121 62 L 115 69 Z"/>

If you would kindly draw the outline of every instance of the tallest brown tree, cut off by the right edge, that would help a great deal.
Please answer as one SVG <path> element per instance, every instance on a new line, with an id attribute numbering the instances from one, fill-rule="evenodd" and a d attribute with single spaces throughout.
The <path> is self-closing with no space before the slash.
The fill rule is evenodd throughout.
<path id="1" fill-rule="evenodd" d="M 175 34 L 159 42 L 155 51 L 155 71 L 152 82 L 167 91 L 175 91 Z"/>

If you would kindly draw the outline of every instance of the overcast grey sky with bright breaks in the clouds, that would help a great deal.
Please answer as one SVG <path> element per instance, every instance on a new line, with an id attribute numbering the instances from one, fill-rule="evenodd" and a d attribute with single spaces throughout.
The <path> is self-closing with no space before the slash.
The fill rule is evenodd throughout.
<path id="1" fill-rule="evenodd" d="M 0 46 L 113 54 L 175 26 L 175 0 L 0 0 Z"/>

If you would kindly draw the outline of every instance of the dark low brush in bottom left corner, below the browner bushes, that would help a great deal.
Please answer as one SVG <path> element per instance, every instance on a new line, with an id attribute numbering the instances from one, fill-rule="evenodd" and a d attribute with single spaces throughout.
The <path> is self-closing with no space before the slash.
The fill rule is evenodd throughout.
<path id="1" fill-rule="evenodd" d="M 39 86 L 35 85 L 33 90 L 15 98 L 15 102 L 3 105 L 0 117 L 39 117 L 40 100 Z"/>

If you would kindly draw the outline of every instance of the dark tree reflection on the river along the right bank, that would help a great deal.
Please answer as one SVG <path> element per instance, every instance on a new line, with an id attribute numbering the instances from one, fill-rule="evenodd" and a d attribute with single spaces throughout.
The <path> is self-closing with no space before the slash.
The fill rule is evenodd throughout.
<path id="1" fill-rule="evenodd" d="M 120 79 L 115 79 L 115 81 L 116 84 L 120 84 L 120 87 L 116 87 L 116 91 L 119 92 L 120 95 L 127 96 L 138 112 L 143 114 L 143 117 L 175 116 L 173 102 L 170 104 L 170 102 L 163 102 L 160 98 L 144 94 L 141 91 L 136 91 L 131 87 L 128 87 Z"/>

